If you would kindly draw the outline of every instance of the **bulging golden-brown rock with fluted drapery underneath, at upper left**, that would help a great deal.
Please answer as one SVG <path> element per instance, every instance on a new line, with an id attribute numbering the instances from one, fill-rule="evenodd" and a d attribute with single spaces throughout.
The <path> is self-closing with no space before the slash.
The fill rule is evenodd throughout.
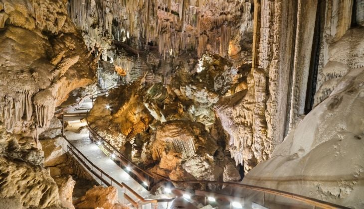
<path id="1" fill-rule="evenodd" d="M 93 58 L 67 17 L 64 1 L 0 1 L 0 120 L 8 131 L 38 137 L 55 106 L 91 82 Z"/>

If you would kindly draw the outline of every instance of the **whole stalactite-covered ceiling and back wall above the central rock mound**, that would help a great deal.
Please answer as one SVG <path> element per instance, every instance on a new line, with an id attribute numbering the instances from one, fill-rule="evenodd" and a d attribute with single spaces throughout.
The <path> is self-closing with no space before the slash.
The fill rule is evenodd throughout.
<path id="1" fill-rule="evenodd" d="M 236 65 L 250 56 L 241 46 L 251 36 L 250 0 L 72 0 L 69 7 L 87 46 L 102 51 L 127 83 L 149 70 L 150 81 L 169 84 L 177 63 L 205 52 L 234 56 Z"/>

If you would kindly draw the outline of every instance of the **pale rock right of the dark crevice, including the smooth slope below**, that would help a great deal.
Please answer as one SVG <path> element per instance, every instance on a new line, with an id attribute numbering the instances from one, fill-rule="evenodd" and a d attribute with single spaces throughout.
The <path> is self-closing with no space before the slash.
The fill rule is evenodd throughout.
<path id="1" fill-rule="evenodd" d="M 291 124 L 271 159 L 253 168 L 243 183 L 363 208 L 364 25 L 363 3 L 356 3 L 317 5 L 327 10 L 317 14 L 326 17 L 321 27 L 324 37 L 316 40 L 321 49 L 316 57 L 317 92 L 308 92 L 314 93 L 311 105 L 316 107 L 298 125 Z M 342 6 L 341 12 L 336 12 L 336 6 Z M 277 197 L 266 200 L 284 201 Z"/>

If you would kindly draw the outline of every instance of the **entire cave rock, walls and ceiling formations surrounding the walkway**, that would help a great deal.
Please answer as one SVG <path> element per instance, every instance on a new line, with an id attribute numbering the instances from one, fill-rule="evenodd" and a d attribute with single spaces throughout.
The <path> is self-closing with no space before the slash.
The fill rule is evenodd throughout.
<path id="1" fill-rule="evenodd" d="M 0 0 L 0 205 L 125 207 L 73 206 L 54 114 L 107 90 L 87 120 L 145 170 L 363 208 L 363 34 L 363 0 Z"/>

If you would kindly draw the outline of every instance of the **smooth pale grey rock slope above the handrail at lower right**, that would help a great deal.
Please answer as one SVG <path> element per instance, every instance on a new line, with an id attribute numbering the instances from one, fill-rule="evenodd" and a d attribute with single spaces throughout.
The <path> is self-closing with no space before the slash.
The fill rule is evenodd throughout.
<path id="1" fill-rule="evenodd" d="M 363 101 L 364 68 L 352 69 L 243 183 L 363 208 Z"/>

